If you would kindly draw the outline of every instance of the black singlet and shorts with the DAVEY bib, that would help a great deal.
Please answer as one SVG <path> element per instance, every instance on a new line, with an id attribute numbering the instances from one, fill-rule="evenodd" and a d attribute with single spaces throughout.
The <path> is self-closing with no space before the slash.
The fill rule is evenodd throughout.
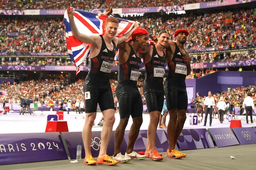
<path id="1" fill-rule="evenodd" d="M 153 45 L 151 60 L 145 64 L 146 80 L 143 84 L 143 94 L 149 113 L 151 111 L 161 112 L 164 105 L 164 66 L 165 53 L 160 56 L 156 51 L 156 46 Z"/>

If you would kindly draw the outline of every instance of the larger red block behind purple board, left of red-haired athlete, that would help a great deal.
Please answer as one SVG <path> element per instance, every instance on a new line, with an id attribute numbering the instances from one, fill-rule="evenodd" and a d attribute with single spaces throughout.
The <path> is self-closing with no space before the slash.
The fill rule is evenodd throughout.
<path id="1" fill-rule="evenodd" d="M 47 121 L 45 132 L 68 132 L 67 121 Z"/>

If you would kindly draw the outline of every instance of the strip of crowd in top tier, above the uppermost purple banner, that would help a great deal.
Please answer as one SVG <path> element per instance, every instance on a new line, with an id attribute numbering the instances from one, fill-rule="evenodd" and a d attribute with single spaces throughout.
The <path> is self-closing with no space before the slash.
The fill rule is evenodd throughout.
<path id="1" fill-rule="evenodd" d="M 184 5 L 199 2 L 210 2 L 216 0 L 0 0 L 0 9 L 5 10 L 60 10 L 69 6 L 74 8 L 97 9 L 112 6 L 113 8 L 138 8 L 138 7 L 156 7 Z"/>

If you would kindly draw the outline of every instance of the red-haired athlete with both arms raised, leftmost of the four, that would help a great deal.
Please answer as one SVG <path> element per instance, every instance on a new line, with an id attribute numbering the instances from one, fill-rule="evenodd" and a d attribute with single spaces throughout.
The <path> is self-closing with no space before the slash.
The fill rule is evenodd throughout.
<path id="1" fill-rule="evenodd" d="M 110 10 L 112 10 L 112 8 L 110 8 Z M 114 165 L 117 164 L 118 161 L 112 160 L 112 158 L 106 154 L 107 146 L 110 141 L 113 124 L 115 121 L 115 107 L 112 91 L 110 88 L 109 76 L 112 69 L 112 64 L 114 63 L 116 45 L 128 39 L 132 35 L 133 31 L 138 27 L 138 24 L 135 23 L 134 28 L 131 27 L 132 29 L 130 29 L 130 31 L 128 31 L 125 35 L 116 37 L 119 25 L 118 19 L 99 15 L 97 16 L 98 18 L 107 18 L 106 20 L 101 20 L 105 23 L 102 24 L 104 29 L 103 35 L 86 35 L 78 31 L 74 21 L 74 17 L 76 17 L 76 19 L 80 20 L 81 22 L 86 21 L 83 15 L 75 12 L 73 7 L 68 8 L 67 13 L 72 33 L 71 36 L 69 35 L 70 44 L 72 37 L 74 37 L 76 41 L 73 41 L 73 43 L 82 41 L 83 43 L 89 44 L 90 47 L 90 71 L 88 72 L 84 82 L 86 112 L 85 124 L 82 131 L 86 156 L 84 159 L 84 164 Z M 87 27 L 90 27 L 90 24 L 87 25 Z M 70 34 L 70 32 L 68 34 Z M 99 156 L 97 161 L 95 161 L 90 151 L 90 143 L 92 139 L 92 126 L 96 118 L 97 104 L 100 106 L 105 122 L 101 132 L 101 146 Z"/>

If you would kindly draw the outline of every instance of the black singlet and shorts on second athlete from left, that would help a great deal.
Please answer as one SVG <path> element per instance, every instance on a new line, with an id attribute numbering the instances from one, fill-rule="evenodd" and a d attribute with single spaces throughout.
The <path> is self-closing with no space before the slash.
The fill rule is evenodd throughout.
<path id="1" fill-rule="evenodd" d="M 142 116 L 142 99 L 137 86 L 140 76 L 141 58 L 138 57 L 132 46 L 128 60 L 119 65 L 118 85 L 116 96 L 119 102 L 120 118 Z"/>

